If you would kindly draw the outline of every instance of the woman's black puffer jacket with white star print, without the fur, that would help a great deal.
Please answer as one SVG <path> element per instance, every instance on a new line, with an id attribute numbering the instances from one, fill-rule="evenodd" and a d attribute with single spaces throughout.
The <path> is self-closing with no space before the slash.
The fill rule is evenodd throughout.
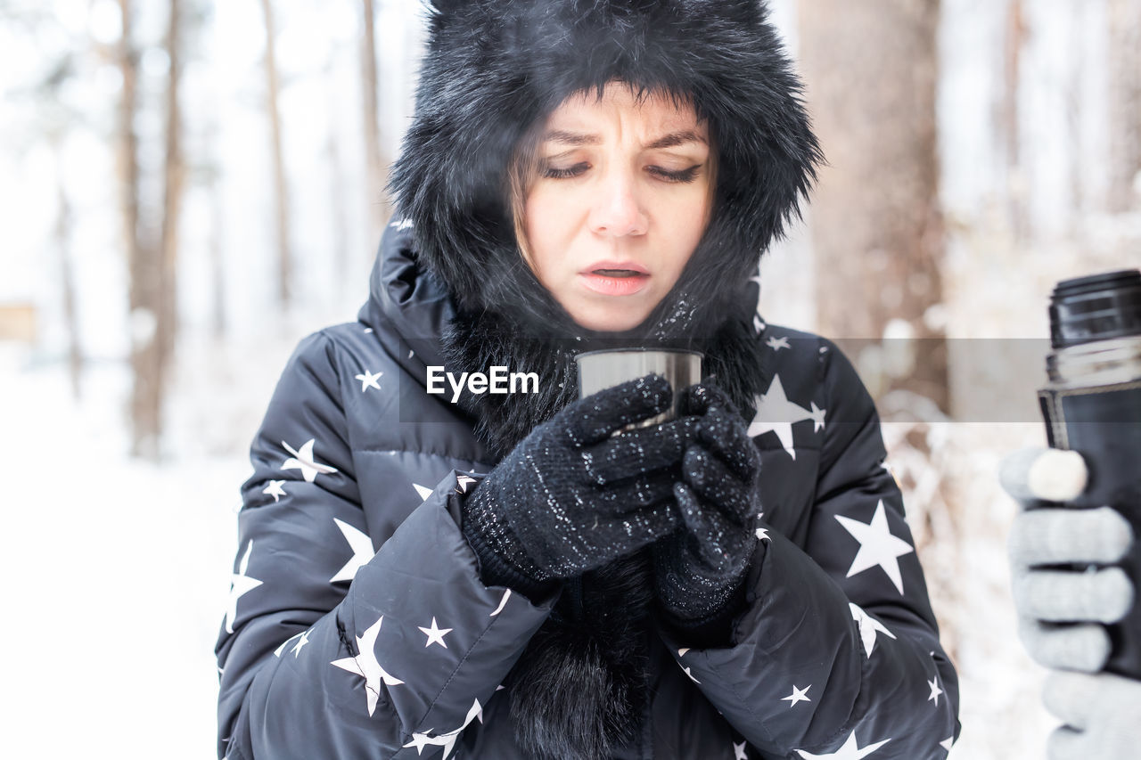
<path id="1" fill-rule="evenodd" d="M 361 321 L 301 342 L 254 439 L 219 757 L 525 757 L 509 674 L 556 600 L 479 580 L 459 499 L 495 461 L 426 391 L 443 364 L 426 337 L 453 307 L 399 226 Z M 747 608 L 725 648 L 649 632 L 652 696 L 622 757 L 941 759 L 957 680 L 872 401 L 827 340 L 755 326 L 768 540 Z"/>

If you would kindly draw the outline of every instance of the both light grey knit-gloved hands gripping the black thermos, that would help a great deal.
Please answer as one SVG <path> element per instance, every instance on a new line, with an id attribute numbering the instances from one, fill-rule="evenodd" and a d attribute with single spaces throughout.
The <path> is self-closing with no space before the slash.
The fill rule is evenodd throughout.
<path id="1" fill-rule="evenodd" d="M 1009 548 L 1019 633 L 1051 669 L 1046 709 L 1065 725 L 1050 737 L 1050 760 L 1133 760 L 1141 741 L 1141 681 L 1099 672 L 1136 590 L 1119 563 L 1133 531 L 1109 507 L 1076 509 L 1087 472 L 1076 452 L 1027 448 L 1002 466 L 1003 487 L 1023 507 Z"/>

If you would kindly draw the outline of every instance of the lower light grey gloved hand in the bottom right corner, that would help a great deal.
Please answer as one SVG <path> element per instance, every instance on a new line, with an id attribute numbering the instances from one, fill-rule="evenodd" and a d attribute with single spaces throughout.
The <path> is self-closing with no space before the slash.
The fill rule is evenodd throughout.
<path id="1" fill-rule="evenodd" d="M 1112 673 L 1054 671 L 1046 710 L 1065 726 L 1046 745 L 1049 760 L 1135 760 L 1141 745 L 1141 681 Z"/>

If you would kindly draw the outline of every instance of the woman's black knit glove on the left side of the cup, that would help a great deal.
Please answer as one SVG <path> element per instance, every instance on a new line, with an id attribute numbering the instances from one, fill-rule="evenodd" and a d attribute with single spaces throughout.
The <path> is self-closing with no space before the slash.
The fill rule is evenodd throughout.
<path id="1" fill-rule="evenodd" d="M 679 525 L 673 484 L 696 418 L 612 437 L 670 406 L 659 375 L 582 398 L 539 426 L 468 495 L 463 534 L 484 582 L 542 595 Z"/>

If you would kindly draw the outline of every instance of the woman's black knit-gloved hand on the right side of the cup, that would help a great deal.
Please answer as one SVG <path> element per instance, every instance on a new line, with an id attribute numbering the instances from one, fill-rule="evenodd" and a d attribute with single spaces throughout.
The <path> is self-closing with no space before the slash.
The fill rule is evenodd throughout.
<path id="1" fill-rule="evenodd" d="M 657 597 L 683 628 L 725 624 L 756 545 L 761 455 L 744 419 L 717 386 L 685 391 L 681 413 L 696 415 L 697 439 L 673 486 L 683 526 L 653 548 Z"/>

